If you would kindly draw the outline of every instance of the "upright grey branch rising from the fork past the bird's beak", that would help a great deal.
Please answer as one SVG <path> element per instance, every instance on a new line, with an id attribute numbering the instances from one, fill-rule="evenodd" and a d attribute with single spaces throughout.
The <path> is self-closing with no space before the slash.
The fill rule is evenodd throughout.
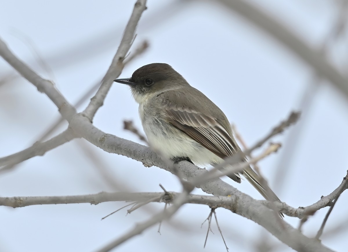
<path id="1" fill-rule="evenodd" d="M 130 46 L 132 45 L 136 26 L 139 22 L 141 14 L 147 8 L 145 4 L 146 0 L 136 1 L 132 15 L 130 16 L 129 21 L 126 25 L 120 46 L 118 47 L 117 52 L 113 57 L 108 71 L 106 71 L 105 73 L 102 84 L 83 112 L 91 121 L 97 110 L 103 105 L 104 99 L 113 83 L 113 80 L 121 74 L 122 69 L 124 68 L 123 61 L 128 50 L 130 49 Z"/>

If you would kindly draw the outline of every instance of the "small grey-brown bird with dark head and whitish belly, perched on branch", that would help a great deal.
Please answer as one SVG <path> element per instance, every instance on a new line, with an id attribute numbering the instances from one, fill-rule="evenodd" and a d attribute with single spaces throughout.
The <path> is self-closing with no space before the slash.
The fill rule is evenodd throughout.
<path id="1" fill-rule="evenodd" d="M 242 152 L 220 108 L 190 86 L 170 65 L 144 65 L 131 78 L 114 81 L 129 85 L 139 103 L 139 115 L 148 141 L 162 156 L 176 163 L 188 160 L 195 165 L 215 165 Z M 244 162 L 246 157 L 239 159 Z M 264 198 L 280 201 L 267 185 L 260 183 L 259 175 L 250 166 L 241 174 Z M 241 182 L 239 174 L 228 176 Z"/>

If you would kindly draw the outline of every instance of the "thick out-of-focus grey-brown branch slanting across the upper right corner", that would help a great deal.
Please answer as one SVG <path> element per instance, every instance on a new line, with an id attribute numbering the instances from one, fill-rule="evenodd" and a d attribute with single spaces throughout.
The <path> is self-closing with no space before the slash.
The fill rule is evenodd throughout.
<path id="1" fill-rule="evenodd" d="M 348 79 L 343 76 L 322 54 L 321 49 L 314 49 L 294 32 L 281 24 L 279 20 L 266 14 L 252 3 L 244 0 L 218 0 L 225 7 L 243 16 L 260 29 L 268 32 L 281 45 L 286 46 L 304 62 L 309 64 L 319 76 L 329 80 L 348 100 Z"/>

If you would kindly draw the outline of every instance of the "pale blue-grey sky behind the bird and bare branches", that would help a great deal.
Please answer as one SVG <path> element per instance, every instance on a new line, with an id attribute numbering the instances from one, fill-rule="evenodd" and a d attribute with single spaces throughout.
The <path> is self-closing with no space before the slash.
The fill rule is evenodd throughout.
<path id="1" fill-rule="evenodd" d="M 71 103 L 99 80 L 110 65 L 120 37 L 132 12 L 134 1 L 2 1 L 0 36 L 10 49 L 41 76 L 52 79 Z M 314 0 L 253 0 L 313 47 L 318 47 L 335 22 L 334 2 Z M 255 143 L 299 108 L 301 95 L 313 71 L 297 56 L 226 7 L 213 1 L 149 0 L 137 28 L 131 52 L 144 39 L 150 48 L 121 74 L 131 76 L 142 65 L 164 62 L 173 66 L 188 82 L 214 101 L 249 144 Z M 29 42 L 31 41 L 31 42 Z M 30 44 L 51 72 L 38 64 Z M 331 60 L 347 61 L 347 34 L 335 43 Z M 15 73 L 0 60 L 0 79 Z M 312 107 L 301 120 L 304 128 L 286 178 L 276 178 L 282 151 L 260 162 L 263 174 L 281 200 L 298 207 L 313 204 L 331 193 L 346 175 L 348 107 L 347 99 L 325 81 Z M 88 100 L 89 101 L 89 100 Z M 82 111 L 86 104 L 78 108 Z M 0 157 L 21 151 L 37 141 L 59 117 L 55 105 L 35 87 L 17 78 L 0 85 Z M 141 129 L 137 104 L 128 88 L 114 84 L 94 125 L 102 131 L 139 142 L 122 129 L 132 119 Z M 61 127 L 55 134 L 60 133 Z M 286 145 L 289 131 L 272 141 Z M 142 143 L 143 144 L 143 143 Z M 85 148 L 82 149 L 81 145 Z M 89 151 L 89 152 L 86 152 Z M 89 153 L 89 154 L 86 154 Z M 89 158 L 95 155 L 99 164 Z M 64 144 L 43 157 L 23 162 L 0 174 L 0 195 L 55 196 L 115 191 L 100 168 L 108 171 L 116 187 L 131 191 L 180 191 L 174 175 L 158 167 L 145 168 L 140 162 L 110 154 L 84 140 Z M 225 181 L 239 190 L 262 199 L 246 181 Z M 196 189 L 194 193 L 203 193 Z M 343 192 L 329 217 L 323 244 L 335 251 L 347 248 L 347 230 L 325 237 L 325 231 L 347 222 L 347 192 Z M 98 205 L 37 205 L 12 209 L 0 207 L 0 251 L 95 251 L 119 237 L 138 222 L 163 209 L 163 204 L 126 215 L 124 202 Z M 306 235 L 315 235 L 329 208 L 318 211 L 304 224 Z M 255 243 L 269 239 L 275 251 L 292 251 L 252 221 L 218 208 L 218 221 L 230 251 L 257 251 Z M 206 248 L 207 225 L 201 223 L 209 208 L 185 205 L 169 223 L 158 225 L 119 246 L 114 251 L 225 251 L 213 221 Z M 299 219 L 285 217 L 294 227 Z M 183 226 L 183 227 L 182 227 Z"/>

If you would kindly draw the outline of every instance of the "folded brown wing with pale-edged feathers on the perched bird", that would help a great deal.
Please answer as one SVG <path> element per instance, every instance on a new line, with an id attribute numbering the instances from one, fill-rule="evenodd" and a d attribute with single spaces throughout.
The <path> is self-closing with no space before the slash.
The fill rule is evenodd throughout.
<path id="1" fill-rule="evenodd" d="M 170 101 L 167 101 L 165 111 L 169 123 L 217 156 L 226 158 L 238 151 L 229 131 L 213 116 L 203 115 L 188 107 L 179 107 Z"/>

